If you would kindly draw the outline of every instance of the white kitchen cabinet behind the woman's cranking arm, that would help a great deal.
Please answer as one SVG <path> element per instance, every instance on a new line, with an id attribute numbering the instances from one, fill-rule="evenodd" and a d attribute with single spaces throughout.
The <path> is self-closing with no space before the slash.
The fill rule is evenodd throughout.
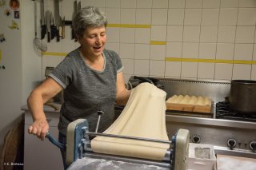
<path id="1" fill-rule="evenodd" d="M 34 135 L 30 135 L 27 129 L 33 120 L 27 106 L 22 106 L 25 112 L 24 126 L 24 170 L 62 170 L 62 155 L 58 147 L 50 143 L 48 139 L 40 140 Z M 49 121 L 50 134 L 58 140 L 58 111 L 54 111 L 50 106 L 44 106 L 46 118 Z"/>

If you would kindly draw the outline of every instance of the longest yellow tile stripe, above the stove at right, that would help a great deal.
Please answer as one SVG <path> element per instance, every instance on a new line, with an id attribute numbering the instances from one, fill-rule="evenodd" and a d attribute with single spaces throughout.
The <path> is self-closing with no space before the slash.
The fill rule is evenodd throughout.
<path id="1" fill-rule="evenodd" d="M 185 62 L 207 62 L 207 63 L 226 63 L 226 64 L 243 64 L 243 65 L 256 65 L 256 61 L 246 60 L 219 60 L 219 59 L 201 59 L 201 58 L 178 58 L 166 57 L 166 61 L 185 61 Z"/>

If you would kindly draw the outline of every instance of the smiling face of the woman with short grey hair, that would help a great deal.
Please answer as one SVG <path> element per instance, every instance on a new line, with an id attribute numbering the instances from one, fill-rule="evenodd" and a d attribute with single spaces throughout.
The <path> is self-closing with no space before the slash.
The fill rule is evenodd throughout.
<path id="1" fill-rule="evenodd" d="M 87 28 L 82 38 L 78 38 L 78 42 L 82 46 L 83 54 L 90 55 L 91 57 L 102 55 L 106 43 L 106 27 Z"/>

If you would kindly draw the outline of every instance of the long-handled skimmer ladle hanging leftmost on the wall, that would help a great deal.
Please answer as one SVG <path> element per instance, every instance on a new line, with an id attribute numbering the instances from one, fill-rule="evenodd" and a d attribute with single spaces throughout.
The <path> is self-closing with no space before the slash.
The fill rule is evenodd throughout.
<path id="1" fill-rule="evenodd" d="M 47 50 L 47 45 L 41 41 L 40 38 L 38 38 L 38 25 L 37 25 L 37 18 L 38 18 L 38 15 L 37 15 L 38 11 L 37 11 L 37 2 L 34 1 L 34 46 L 37 48 L 37 49 L 40 49 L 41 51 L 44 51 L 46 52 Z"/>

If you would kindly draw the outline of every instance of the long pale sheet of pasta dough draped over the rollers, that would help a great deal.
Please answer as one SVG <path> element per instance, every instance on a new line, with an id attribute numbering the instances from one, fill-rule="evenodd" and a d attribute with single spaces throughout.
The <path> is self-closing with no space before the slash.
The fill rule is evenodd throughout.
<path id="1" fill-rule="evenodd" d="M 166 133 L 166 92 L 150 83 L 132 89 L 121 115 L 104 133 L 168 140 Z M 94 152 L 162 160 L 170 144 L 97 136 Z"/>

